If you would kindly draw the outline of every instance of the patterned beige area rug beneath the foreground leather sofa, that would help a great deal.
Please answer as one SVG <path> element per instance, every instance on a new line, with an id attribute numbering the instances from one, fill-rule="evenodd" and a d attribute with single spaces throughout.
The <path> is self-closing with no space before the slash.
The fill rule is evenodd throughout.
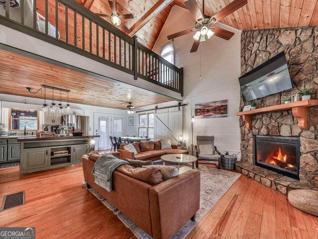
<path id="1" fill-rule="evenodd" d="M 184 239 L 240 176 L 239 173 L 202 165 L 199 165 L 198 170 L 201 172 L 200 209 L 196 213 L 195 221 L 192 222 L 189 220 L 172 237 L 172 239 Z M 113 213 L 117 215 L 137 238 L 151 239 L 147 233 L 137 227 L 130 219 L 98 194 L 93 188 L 89 188 L 88 190 L 101 200 L 109 210 L 113 211 Z"/>

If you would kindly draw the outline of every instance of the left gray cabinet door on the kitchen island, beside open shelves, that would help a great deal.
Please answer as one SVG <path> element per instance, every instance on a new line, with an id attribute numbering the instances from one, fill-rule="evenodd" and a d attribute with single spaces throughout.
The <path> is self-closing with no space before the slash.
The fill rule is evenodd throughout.
<path id="1" fill-rule="evenodd" d="M 49 167 L 48 148 L 33 148 L 23 151 L 23 170 L 43 169 Z"/>

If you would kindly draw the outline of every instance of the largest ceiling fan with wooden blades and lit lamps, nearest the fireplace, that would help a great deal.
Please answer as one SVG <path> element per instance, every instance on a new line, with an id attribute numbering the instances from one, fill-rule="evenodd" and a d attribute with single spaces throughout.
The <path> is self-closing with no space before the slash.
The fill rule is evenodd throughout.
<path id="1" fill-rule="evenodd" d="M 247 0 L 234 0 L 229 5 L 215 13 L 213 16 L 208 16 L 204 14 L 204 0 L 203 12 L 201 12 L 201 9 L 196 0 L 188 0 L 184 3 L 196 21 L 195 27 L 168 35 L 167 38 L 168 40 L 171 40 L 178 36 L 182 36 L 190 32 L 195 32 L 195 34 L 193 35 L 194 42 L 190 51 L 195 52 L 197 51 L 200 42 L 207 41 L 207 39 L 210 39 L 213 35 L 216 35 L 226 40 L 230 40 L 231 37 L 234 35 L 233 32 L 222 29 L 217 26 L 213 26 L 213 24 L 217 23 L 218 21 L 222 20 L 222 18 L 238 10 L 243 5 L 247 4 Z"/>

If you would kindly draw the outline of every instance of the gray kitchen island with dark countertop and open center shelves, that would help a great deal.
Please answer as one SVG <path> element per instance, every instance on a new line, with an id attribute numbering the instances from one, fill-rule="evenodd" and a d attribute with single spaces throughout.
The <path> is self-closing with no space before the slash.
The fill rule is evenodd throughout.
<path id="1" fill-rule="evenodd" d="M 94 135 L 96 137 L 96 135 Z M 89 136 L 19 137 L 20 177 L 25 173 L 81 162 L 90 151 Z"/>

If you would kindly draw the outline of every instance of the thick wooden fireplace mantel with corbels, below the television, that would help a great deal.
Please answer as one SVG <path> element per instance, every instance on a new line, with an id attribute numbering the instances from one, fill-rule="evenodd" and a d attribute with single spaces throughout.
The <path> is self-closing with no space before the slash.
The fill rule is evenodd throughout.
<path id="1" fill-rule="evenodd" d="M 298 127 L 301 129 L 308 129 L 308 107 L 314 106 L 318 106 L 318 100 L 297 101 L 277 106 L 259 108 L 251 111 L 238 112 L 237 116 L 241 116 L 246 122 L 246 127 L 251 130 L 253 115 L 292 109 L 292 114 L 298 119 Z"/>

